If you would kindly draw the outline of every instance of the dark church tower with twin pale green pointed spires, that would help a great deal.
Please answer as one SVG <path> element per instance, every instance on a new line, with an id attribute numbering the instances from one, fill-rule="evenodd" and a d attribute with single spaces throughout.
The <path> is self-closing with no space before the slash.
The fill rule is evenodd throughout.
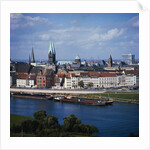
<path id="1" fill-rule="evenodd" d="M 50 41 L 49 51 L 48 51 L 48 62 L 49 64 L 55 64 L 56 62 L 56 52 L 54 48 L 54 43 Z"/>

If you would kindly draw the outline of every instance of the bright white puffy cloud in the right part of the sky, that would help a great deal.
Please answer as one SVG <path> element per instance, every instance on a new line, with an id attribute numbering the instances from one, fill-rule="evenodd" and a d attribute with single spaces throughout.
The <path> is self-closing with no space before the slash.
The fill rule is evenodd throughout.
<path id="1" fill-rule="evenodd" d="M 120 35 L 122 35 L 124 32 L 124 29 L 111 29 L 109 31 L 107 31 L 107 33 L 101 34 L 100 35 L 100 39 L 103 41 L 107 41 L 107 40 L 111 40 L 113 38 L 119 37 Z"/>

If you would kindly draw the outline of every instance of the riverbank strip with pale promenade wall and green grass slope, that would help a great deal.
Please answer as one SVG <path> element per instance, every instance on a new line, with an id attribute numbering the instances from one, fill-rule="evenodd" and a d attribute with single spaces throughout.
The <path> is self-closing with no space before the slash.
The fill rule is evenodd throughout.
<path id="1" fill-rule="evenodd" d="M 116 102 L 125 102 L 139 104 L 139 93 L 138 92 L 120 92 L 120 91 L 87 91 L 87 90 L 50 90 L 50 89 L 17 89 L 10 88 L 11 93 L 28 93 L 33 98 L 36 94 L 42 95 L 53 95 L 53 96 L 76 96 L 78 98 L 87 99 L 100 99 L 110 98 Z M 43 97 L 37 97 L 43 98 Z"/>

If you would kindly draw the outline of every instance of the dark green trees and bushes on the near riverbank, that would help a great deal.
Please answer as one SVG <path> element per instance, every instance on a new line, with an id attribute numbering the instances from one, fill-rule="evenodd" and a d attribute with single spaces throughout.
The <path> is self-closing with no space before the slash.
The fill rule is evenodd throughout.
<path id="1" fill-rule="evenodd" d="M 33 134 L 37 137 L 67 137 L 67 136 L 94 136 L 98 129 L 93 125 L 83 124 L 74 114 L 63 118 L 60 125 L 57 117 L 46 114 L 45 110 L 33 114 L 33 120 L 23 121 L 20 125 L 10 128 L 11 133 Z"/>

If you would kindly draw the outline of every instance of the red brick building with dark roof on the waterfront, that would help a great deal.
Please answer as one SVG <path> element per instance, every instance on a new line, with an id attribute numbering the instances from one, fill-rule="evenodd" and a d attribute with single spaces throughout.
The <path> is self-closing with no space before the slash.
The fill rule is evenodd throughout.
<path id="1" fill-rule="evenodd" d="M 51 88 L 54 85 L 52 69 L 40 70 L 36 77 L 37 88 Z"/>

